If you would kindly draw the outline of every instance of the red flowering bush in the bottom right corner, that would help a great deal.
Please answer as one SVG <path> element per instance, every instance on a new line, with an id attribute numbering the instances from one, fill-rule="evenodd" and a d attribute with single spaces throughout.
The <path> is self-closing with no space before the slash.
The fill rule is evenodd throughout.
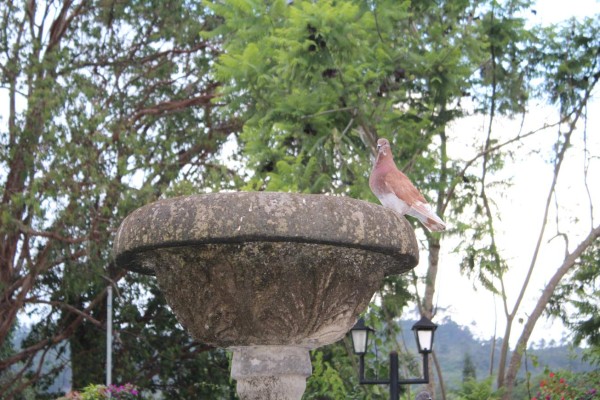
<path id="1" fill-rule="evenodd" d="M 572 379 L 573 382 L 568 383 L 567 379 Z M 547 377 L 544 377 L 540 381 L 540 388 L 537 395 L 531 400 L 600 399 L 598 390 L 591 385 L 594 385 L 594 383 L 589 380 L 582 385 L 581 382 L 575 380 L 572 374 L 548 372 Z"/>

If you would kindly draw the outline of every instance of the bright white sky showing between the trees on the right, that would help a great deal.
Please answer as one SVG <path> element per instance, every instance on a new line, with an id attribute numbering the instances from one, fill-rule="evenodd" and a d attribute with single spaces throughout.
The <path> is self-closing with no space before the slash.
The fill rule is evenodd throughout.
<path id="1" fill-rule="evenodd" d="M 571 17 L 582 18 L 584 16 L 600 17 L 600 2 L 594 0 L 571 0 L 569 2 L 558 0 L 540 0 L 537 2 L 537 14 L 530 16 L 532 24 L 552 24 L 564 21 Z M 600 95 L 599 91 L 593 96 L 588 108 L 588 150 L 591 154 L 600 154 Z M 525 119 L 524 132 L 536 129 L 544 122 L 554 122 L 556 113 L 544 104 L 531 107 Z M 465 137 L 464 143 L 454 143 L 454 155 L 464 154 L 468 148 L 469 141 L 477 141 L 483 138 L 487 121 L 485 117 L 471 117 L 458 122 L 453 128 L 460 131 Z M 495 122 L 496 130 L 501 129 L 506 138 L 516 136 L 520 129 L 521 121 L 501 119 Z M 581 127 L 581 124 L 580 124 Z M 512 308 L 523 282 L 525 273 L 531 262 L 533 248 L 538 237 L 540 224 L 543 216 L 545 198 L 552 179 L 552 166 L 548 164 L 550 159 L 549 149 L 552 141 L 556 138 L 556 129 L 549 129 L 535 138 L 527 140 L 526 144 L 534 144 L 534 147 L 545 149 L 540 153 L 531 153 L 530 146 L 515 149 L 513 161 L 507 165 L 505 171 L 512 178 L 513 185 L 509 189 L 503 189 L 495 194 L 494 200 L 498 203 L 498 209 L 502 220 L 496 228 L 499 232 L 498 243 L 503 256 L 508 258 L 511 266 L 507 274 L 507 289 L 509 292 L 509 308 Z M 581 132 L 581 131 L 580 131 Z M 581 138 L 581 133 L 578 135 Z M 539 146 L 536 146 L 539 145 Z M 582 142 L 574 143 L 573 154 L 581 154 Z M 563 172 L 559 181 L 559 190 L 562 195 L 559 203 L 562 204 L 560 212 L 563 219 L 560 220 L 560 229 L 575 232 L 576 238 L 581 239 L 577 232 L 585 232 L 589 229 L 589 205 L 583 180 L 583 158 L 574 156 L 565 161 Z M 600 160 L 597 158 L 590 164 L 588 173 L 589 188 L 592 197 L 597 204 L 600 200 L 600 185 L 593 182 L 600 181 Z M 570 220 L 566 219 L 568 217 Z M 595 210 L 595 223 L 600 220 L 598 210 Z M 544 237 L 543 248 L 537 269 L 526 292 L 524 303 L 517 314 L 519 318 L 527 318 L 537 301 L 541 288 L 547 283 L 551 273 L 560 265 L 564 257 L 564 245 L 560 239 L 552 239 L 556 228 L 550 226 Z M 551 240 L 552 239 L 552 240 Z M 569 248 L 572 250 L 578 241 L 573 240 Z M 500 298 L 494 298 L 490 292 L 479 289 L 474 290 L 474 284 L 468 278 L 461 276 L 459 271 L 460 255 L 449 252 L 454 247 L 452 239 L 442 244 L 443 254 L 440 258 L 438 272 L 438 285 L 436 292 L 436 303 L 440 309 L 437 320 L 449 316 L 455 322 L 469 326 L 473 333 L 482 338 L 489 339 L 496 334 L 504 336 L 505 318 Z M 417 266 L 417 272 L 423 274 L 426 270 L 426 258 L 421 257 L 421 263 Z M 521 332 L 521 324 L 516 323 L 516 329 L 511 337 L 514 345 Z M 542 317 L 533 332 L 530 343 L 538 343 L 540 340 L 549 342 L 555 340 L 560 342 L 566 334 L 566 330 L 560 321 L 547 320 Z"/>

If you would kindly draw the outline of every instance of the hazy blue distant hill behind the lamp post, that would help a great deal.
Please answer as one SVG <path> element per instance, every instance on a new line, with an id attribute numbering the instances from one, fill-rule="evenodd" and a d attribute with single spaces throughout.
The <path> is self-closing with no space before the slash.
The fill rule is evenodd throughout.
<path id="1" fill-rule="evenodd" d="M 411 328 L 416 321 L 401 321 L 404 339 L 410 346 L 414 343 Z M 457 388 L 462 383 L 462 373 L 467 354 L 470 355 L 476 370 L 477 379 L 489 376 L 490 359 L 492 350 L 491 340 L 476 339 L 468 327 L 460 326 L 449 318 L 445 318 L 435 332 L 434 350 L 439 360 L 444 381 L 449 388 Z M 554 343 L 553 343 L 554 344 Z M 415 344 L 416 346 L 416 344 Z M 496 353 L 494 357 L 494 372 L 498 368 L 498 359 L 502 339 L 496 340 Z M 590 371 L 593 368 L 581 361 L 582 350 L 568 345 L 547 346 L 543 348 L 530 347 L 527 350 L 527 368 L 532 376 L 544 372 L 545 367 L 552 370 L 566 369 L 573 372 Z M 537 367 L 533 365 L 537 360 Z M 519 372 L 520 377 L 525 377 L 525 363 Z"/>

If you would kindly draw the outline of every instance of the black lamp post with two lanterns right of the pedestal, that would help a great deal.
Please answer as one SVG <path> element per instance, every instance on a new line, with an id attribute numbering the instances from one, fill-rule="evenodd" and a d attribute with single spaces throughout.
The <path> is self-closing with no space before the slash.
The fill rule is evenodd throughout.
<path id="1" fill-rule="evenodd" d="M 422 317 L 412 330 L 415 333 L 417 348 L 423 356 L 423 377 L 413 379 L 400 379 L 398 375 L 398 353 L 390 353 L 390 376 L 388 380 L 365 379 L 365 353 L 369 345 L 369 333 L 374 330 L 365 325 L 365 321 L 360 318 L 356 325 L 350 329 L 352 336 L 352 347 L 354 354 L 360 357 L 359 363 L 359 383 L 361 385 L 390 385 L 390 400 L 400 398 L 401 385 L 415 385 L 429 383 L 429 353 L 433 349 L 433 334 L 437 325 L 429 319 Z"/>

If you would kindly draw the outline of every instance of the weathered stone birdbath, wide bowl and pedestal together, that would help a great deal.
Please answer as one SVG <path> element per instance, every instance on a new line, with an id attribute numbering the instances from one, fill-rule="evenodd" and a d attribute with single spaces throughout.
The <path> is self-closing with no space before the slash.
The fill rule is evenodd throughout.
<path id="1" fill-rule="evenodd" d="M 309 350 L 341 339 L 387 275 L 418 261 L 404 217 L 347 197 L 214 193 L 161 200 L 117 232 L 116 263 L 156 275 L 196 340 L 233 351 L 242 400 L 296 400 Z"/>

